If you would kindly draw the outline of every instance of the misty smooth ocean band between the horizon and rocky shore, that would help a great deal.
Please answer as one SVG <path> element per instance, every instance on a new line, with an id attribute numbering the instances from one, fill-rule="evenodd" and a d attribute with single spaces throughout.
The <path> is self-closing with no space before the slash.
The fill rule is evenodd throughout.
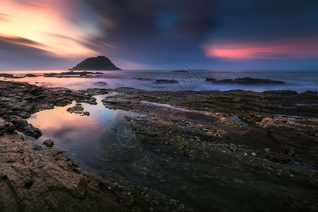
<path id="1" fill-rule="evenodd" d="M 1 71 L 0 73 L 12 73 L 24 76 L 26 73 L 60 73 L 65 70 L 55 71 Z M 178 72 L 177 72 L 178 71 Z M 182 72 L 180 72 L 182 71 Z M 187 71 L 187 72 L 185 72 Z M 119 88 L 131 87 L 143 90 L 295 90 L 298 93 L 306 90 L 317 91 L 318 71 L 231 71 L 231 70 L 194 70 L 183 68 L 180 70 L 126 70 L 126 71 L 98 71 L 105 73 L 103 78 L 49 78 L 29 77 L 13 79 L 14 81 L 26 81 L 37 86 L 66 87 L 71 89 L 86 88 Z M 234 78 L 263 78 L 283 81 L 284 85 L 216 85 L 206 78 L 234 79 Z M 3 77 L 0 77 L 0 80 Z M 175 80 L 175 84 L 157 84 L 158 79 Z M 12 79 L 7 79 L 12 80 Z M 105 82 L 107 85 L 96 85 L 95 82 Z"/>

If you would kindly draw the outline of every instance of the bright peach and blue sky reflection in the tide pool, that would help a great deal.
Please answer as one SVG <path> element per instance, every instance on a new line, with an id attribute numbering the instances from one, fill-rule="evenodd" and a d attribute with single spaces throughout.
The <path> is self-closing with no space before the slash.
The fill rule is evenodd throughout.
<path id="1" fill-rule="evenodd" d="M 131 125 L 125 116 L 134 116 L 132 112 L 124 110 L 110 110 L 102 105 L 100 101 L 104 96 L 95 96 L 98 105 L 88 105 L 82 103 L 90 116 L 79 116 L 66 112 L 66 109 L 73 107 L 75 101 L 66 107 L 54 107 L 53 110 L 44 110 L 33 114 L 28 122 L 41 129 L 43 136 L 33 140 L 42 145 L 46 139 L 54 141 L 54 147 L 61 151 L 66 151 L 66 155 L 71 156 L 79 165 L 92 170 L 92 165 L 96 162 L 93 158 L 98 158 L 98 151 L 108 148 L 126 148 L 123 146 L 131 145 L 125 141 L 123 126 L 126 127 L 126 136 L 137 137 L 131 131 Z M 118 138 L 122 138 L 119 141 Z M 101 147 L 102 146 L 102 147 Z"/>

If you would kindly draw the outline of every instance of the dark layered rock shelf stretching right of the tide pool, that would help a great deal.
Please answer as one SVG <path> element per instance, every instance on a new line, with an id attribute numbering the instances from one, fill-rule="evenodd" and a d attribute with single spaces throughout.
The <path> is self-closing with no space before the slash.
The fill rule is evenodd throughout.
<path id="1" fill-rule="evenodd" d="M 127 122 L 165 152 L 169 177 L 153 180 L 181 178 L 172 198 L 199 211 L 317 209 L 317 92 L 112 91 L 106 107 L 147 114 Z"/>

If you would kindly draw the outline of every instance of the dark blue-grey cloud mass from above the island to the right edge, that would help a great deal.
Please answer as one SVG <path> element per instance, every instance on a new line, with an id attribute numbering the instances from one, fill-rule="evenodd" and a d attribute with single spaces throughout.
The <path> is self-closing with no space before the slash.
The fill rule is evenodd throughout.
<path id="1" fill-rule="evenodd" d="M 100 17 L 102 35 L 86 45 L 142 64 L 182 66 L 220 62 L 205 42 L 259 42 L 318 34 L 316 0 L 86 0 Z M 257 57 L 288 58 L 291 54 Z M 177 65 L 176 65 L 177 64 Z"/>

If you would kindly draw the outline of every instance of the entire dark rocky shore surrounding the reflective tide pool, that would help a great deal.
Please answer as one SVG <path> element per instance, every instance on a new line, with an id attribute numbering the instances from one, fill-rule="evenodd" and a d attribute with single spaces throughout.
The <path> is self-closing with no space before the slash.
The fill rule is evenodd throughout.
<path id="1" fill-rule="evenodd" d="M 160 165 L 179 173 L 158 176 L 172 182 L 169 198 L 162 184 L 158 192 L 118 184 L 16 133 L 38 138 L 40 129 L 25 120 L 34 112 L 73 100 L 97 104 L 93 95 L 107 93 L 106 107 L 147 114 L 126 117 L 127 126 L 165 152 Z M 317 105 L 311 91 L 76 91 L 0 81 L 0 210 L 316 211 Z M 161 168 L 143 164 L 142 175 Z"/>

